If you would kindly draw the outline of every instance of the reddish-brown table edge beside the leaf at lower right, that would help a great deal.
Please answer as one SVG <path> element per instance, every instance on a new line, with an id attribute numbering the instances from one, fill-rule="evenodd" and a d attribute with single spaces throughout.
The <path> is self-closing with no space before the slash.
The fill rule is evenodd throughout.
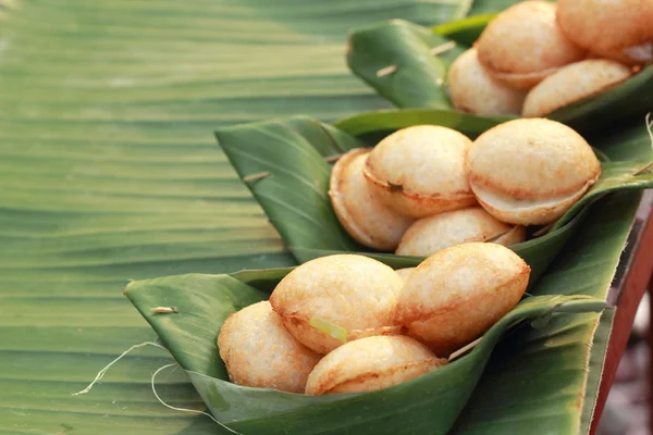
<path id="1" fill-rule="evenodd" d="M 596 433 L 596 426 L 601 420 L 607 394 L 615 380 L 619 361 L 626 350 L 626 345 L 628 344 L 628 338 L 630 337 L 632 323 L 634 321 L 634 314 L 637 313 L 637 309 L 653 275 L 652 206 L 653 192 L 646 192 L 642 199 L 638 219 L 628 239 L 627 249 L 621 256 L 621 264 L 619 268 L 621 273 L 619 274 L 617 272 L 615 283 L 608 295 L 608 301 L 616 304 L 617 310 L 607 345 L 603 376 L 599 388 L 596 407 L 594 409 L 594 417 L 590 431 L 590 434 L 592 435 Z M 653 345 L 653 334 L 651 343 Z M 653 378 L 653 369 L 651 375 Z"/>

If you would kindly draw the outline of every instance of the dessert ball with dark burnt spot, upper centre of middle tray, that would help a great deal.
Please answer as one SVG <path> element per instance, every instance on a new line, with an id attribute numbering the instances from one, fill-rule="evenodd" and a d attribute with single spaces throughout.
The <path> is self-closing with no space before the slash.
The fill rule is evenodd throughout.
<path id="1" fill-rule="evenodd" d="M 383 202 L 406 216 L 461 209 L 476 203 L 465 173 L 470 145 L 446 127 L 403 128 L 374 147 L 364 174 Z"/>

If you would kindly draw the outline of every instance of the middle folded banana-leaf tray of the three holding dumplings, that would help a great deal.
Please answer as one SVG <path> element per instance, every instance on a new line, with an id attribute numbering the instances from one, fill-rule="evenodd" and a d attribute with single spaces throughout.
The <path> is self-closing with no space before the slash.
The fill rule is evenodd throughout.
<path id="1" fill-rule="evenodd" d="M 468 132 L 482 124 L 465 126 L 463 130 Z M 224 127 L 217 130 L 215 136 L 297 261 L 336 252 L 365 253 L 394 268 L 415 266 L 423 260 L 370 252 L 354 241 L 338 223 L 329 198 L 331 166 L 326 161 L 364 146 L 356 137 L 307 117 Z M 531 285 L 589 215 L 593 201 L 613 191 L 653 187 L 653 174 L 638 174 L 645 164 L 603 162 L 599 182 L 551 232 L 510 247 L 531 266 Z"/>

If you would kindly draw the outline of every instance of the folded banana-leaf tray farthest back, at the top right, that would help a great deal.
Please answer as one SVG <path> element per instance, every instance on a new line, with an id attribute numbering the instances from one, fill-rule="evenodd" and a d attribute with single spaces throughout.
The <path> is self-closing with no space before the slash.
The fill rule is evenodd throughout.
<path id="1" fill-rule="evenodd" d="M 357 28 L 349 35 L 347 63 L 354 74 L 399 108 L 458 112 L 446 94 L 446 71 L 466 48 L 459 40 L 467 41 L 470 35 L 480 34 L 489 17 L 467 18 L 434 29 L 398 20 Z M 445 47 L 447 41 L 455 42 L 454 37 L 458 40 L 454 49 L 433 54 L 433 50 Z M 584 132 L 606 122 L 642 115 L 652 108 L 653 66 L 648 66 L 623 84 L 546 117 Z M 494 116 L 479 117 L 501 121 Z"/>

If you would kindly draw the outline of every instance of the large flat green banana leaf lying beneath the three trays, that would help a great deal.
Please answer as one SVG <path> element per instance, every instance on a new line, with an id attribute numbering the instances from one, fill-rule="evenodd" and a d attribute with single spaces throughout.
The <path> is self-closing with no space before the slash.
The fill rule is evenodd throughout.
<path id="1" fill-rule="evenodd" d="M 157 338 L 121 296 L 127 279 L 295 263 L 211 132 L 272 116 L 332 121 L 390 108 L 347 72 L 347 30 L 392 18 L 432 26 L 463 17 L 468 2 L 1 4 L 0 433 L 219 432 L 208 418 L 164 408 L 152 395 L 152 373 L 174 361 L 158 349 L 135 350 L 90 393 L 71 395 L 132 345 Z M 473 8 L 496 4 L 476 0 Z M 650 160 L 640 124 L 608 123 L 592 144 L 613 160 Z M 539 285 L 605 290 L 638 202 L 637 194 L 614 194 L 594 204 Z M 514 334 L 523 331 L 530 328 Z M 569 338 L 543 341 L 538 353 L 497 347 L 454 433 L 532 432 L 577 418 L 576 402 L 591 410 L 592 388 L 583 400 L 572 393 L 583 390 L 582 376 L 568 382 L 587 366 L 568 359 L 582 361 L 592 337 Z M 592 359 L 601 361 L 605 346 L 595 335 Z M 515 370 L 498 370 L 507 363 Z M 592 365 L 588 387 L 600 375 Z M 525 388 L 533 380 L 547 388 Z M 161 373 L 157 390 L 172 406 L 205 409 L 182 371 Z"/>

